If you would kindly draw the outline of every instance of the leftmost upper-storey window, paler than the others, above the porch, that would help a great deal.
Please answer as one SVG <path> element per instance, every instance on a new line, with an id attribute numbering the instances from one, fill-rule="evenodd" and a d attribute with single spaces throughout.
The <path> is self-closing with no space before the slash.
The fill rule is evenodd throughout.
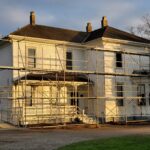
<path id="1" fill-rule="evenodd" d="M 36 50 L 28 49 L 28 67 L 35 68 L 36 67 Z"/>

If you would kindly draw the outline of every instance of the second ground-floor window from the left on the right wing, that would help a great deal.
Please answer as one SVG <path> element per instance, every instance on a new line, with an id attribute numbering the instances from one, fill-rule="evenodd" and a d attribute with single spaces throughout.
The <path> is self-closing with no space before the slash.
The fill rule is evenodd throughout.
<path id="1" fill-rule="evenodd" d="M 146 99 L 145 99 L 145 85 L 139 84 L 137 87 L 137 96 L 141 97 L 138 99 L 138 105 L 145 106 L 146 105 Z"/>

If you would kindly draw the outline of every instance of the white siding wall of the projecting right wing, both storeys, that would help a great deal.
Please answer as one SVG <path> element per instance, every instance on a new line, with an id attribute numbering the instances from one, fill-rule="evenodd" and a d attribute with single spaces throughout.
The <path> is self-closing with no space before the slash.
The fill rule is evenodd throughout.
<path id="1" fill-rule="evenodd" d="M 104 42 L 104 48 L 111 49 L 114 51 L 128 51 L 128 52 L 135 52 L 135 53 L 147 53 L 145 47 L 140 46 L 131 46 L 131 45 L 124 45 L 119 43 L 110 43 Z M 149 57 L 147 56 L 138 56 L 138 55 L 131 55 L 131 54 L 122 54 L 122 68 L 116 68 L 116 54 L 115 52 L 105 52 L 104 53 L 104 64 L 105 64 L 105 72 L 109 73 L 122 73 L 131 75 L 134 70 L 149 70 Z M 146 79 L 149 82 L 149 79 Z M 124 106 L 116 106 L 116 83 L 123 83 L 123 90 L 124 90 Z M 137 86 L 140 83 L 144 83 L 146 86 L 146 95 L 148 97 L 149 87 L 148 83 L 144 82 L 141 78 L 133 78 L 133 77 L 113 77 L 113 76 L 106 76 L 105 78 L 105 96 L 109 97 L 106 100 L 106 111 L 105 114 L 110 116 L 111 121 L 113 116 L 140 116 L 142 115 L 150 115 L 150 106 L 148 104 L 147 98 L 147 105 L 146 106 L 138 106 L 137 99 L 132 97 L 137 97 Z M 111 99 L 114 97 L 114 99 Z M 131 97 L 129 99 L 129 97 Z"/>

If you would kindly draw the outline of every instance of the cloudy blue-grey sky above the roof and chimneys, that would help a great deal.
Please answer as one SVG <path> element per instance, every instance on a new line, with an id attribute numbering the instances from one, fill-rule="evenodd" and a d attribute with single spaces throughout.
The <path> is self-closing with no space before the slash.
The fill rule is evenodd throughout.
<path id="1" fill-rule="evenodd" d="M 102 16 L 110 26 L 128 30 L 150 14 L 150 0 L 0 0 L 0 34 L 7 35 L 29 23 L 30 11 L 36 24 L 85 31 L 101 27 Z"/>

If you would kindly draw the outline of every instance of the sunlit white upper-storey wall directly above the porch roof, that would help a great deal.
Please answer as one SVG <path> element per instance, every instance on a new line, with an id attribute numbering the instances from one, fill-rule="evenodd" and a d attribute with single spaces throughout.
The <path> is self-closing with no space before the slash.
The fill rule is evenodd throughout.
<path id="1" fill-rule="evenodd" d="M 28 48 L 36 49 L 36 69 L 49 69 L 52 71 L 65 69 L 66 51 L 73 53 L 73 70 L 84 70 L 84 68 L 87 68 L 84 49 L 29 41 L 13 42 L 14 66 L 28 67 Z M 24 73 L 21 73 L 20 76 L 22 75 Z M 18 72 L 14 71 L 14 78 L 17 78 L 17 76 Z"/>

